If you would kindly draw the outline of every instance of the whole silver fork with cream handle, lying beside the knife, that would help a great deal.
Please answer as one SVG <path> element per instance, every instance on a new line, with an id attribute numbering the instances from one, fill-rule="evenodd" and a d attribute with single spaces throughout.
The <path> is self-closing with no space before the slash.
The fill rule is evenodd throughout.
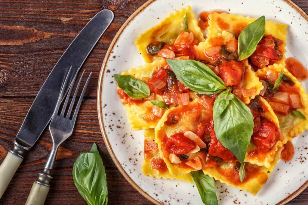
<path id="1" fill-rule="evenodd" d="M 83 86 L 83 90 L 82 90 L 82 93 L 80 95 L 77 106 L 75 108 L 74 115 L 72 116 L 72 119 L 70 119 L 71 112 L 72 112 L 72 109 L 73 109 L 73 106 L 74 106 L 74 102 L 75 102 L 75 99 L 76 99 L 76 96 L 77 96 L 77 93 L 78 93 L 78 90 L 79 90 L 79 86 L 80 86 L 80 83 L 81 83 L 81 79 L 83 78 L 84 71 L 83 71 L 83 73 L 82 73 L 82 75 L 79 79 L 79 82 L 78 82 L 78 85 L 76 87 L 74 96 L 71 100 L 70 107 L 68 108 L 67 115 L 64 116 L 65 110 L 66 110 L 66 107 L 67 107 L 67 104 L 68 104 L 68 101 L 69 101 L 69 98 L 70 98 L 70 95 L 71 95 L 71 91 L 72 91 L 74 84 L 75 84 L 75 81 L 76 81 L 77 73 L 76 73 L 76 75 L 75 75 L 75 77 L 74 77 L 74 79 L 73 79 L 73 81 L 70 85 L 70 89 L 67 93 L 67 97 L 66 97 L 65 102 L 63 104 L 62 111 L 61 111 L 60 115 L 58 115 L 61 101 L 62 101 L 63 97 L 65 96 L 64 91 L 65 91 L 65 87 L 68 83 L 68 77 L 69 77 L 70 72 L 71 72 L 71 69 L 69 69 L 69 71 L 66 75 L 65 81 L 64 81 L 62 89 L 61 89 L 61 93 L 60 93 L 58 101 L 57 101 L 55 112 L 52 116 L 52 119 L 51 119 L 51 122 L 50 122 L 50 125 L 49 125 L 49 130 L 50 130 L 51 138 L 52 138 L 51 152 L 48 156 L 48 159 L 46 161 L 46 164 L 45 164 L 43 171 L 39 173 L 39 178 L 37 180 L 35 180 L 33 185 L 32 185 L 30 194 L 28 196 L 28 199 L 27 199 L 25 205 L 42 205 L 42 204 L 44 204 L 45 199 L 46 199 L 47 194 L 48 194 L 48 191 L 49 191 L 49 188 L 50 188 L 50 180 L 52 179 L 51 170 L 54 168 L 58 148 L 59 148 L 60 144 L 63 143 L 69 136 L 71 136 L 71 134 L 73 132 L 74 125 L 75 125 L 75 122 L 76 122 L 76 117 L 77 117 L 77 114 L 78 114 L 78 111 L 79 111 L 79 108 L 80 108 L 80 104 L 81 104 L 81 101 L 83 100 L 84 93 L 87 89 L 87 85 L 88 85 L 90 78 L 91 78 L 91 75 L 92 75 L 92 72 L 91 72 L 89 74 L 89 77 L 88 77 L 85 85 Z"/>

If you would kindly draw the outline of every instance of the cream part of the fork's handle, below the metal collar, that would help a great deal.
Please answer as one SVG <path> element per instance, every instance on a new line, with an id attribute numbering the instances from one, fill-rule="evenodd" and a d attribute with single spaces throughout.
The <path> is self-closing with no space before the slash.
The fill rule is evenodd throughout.
<path id="1" fill-rule="evenodd" d="M 25 205 L 43 205 L 47 197 L 48 186 L 34 182 Z"/>

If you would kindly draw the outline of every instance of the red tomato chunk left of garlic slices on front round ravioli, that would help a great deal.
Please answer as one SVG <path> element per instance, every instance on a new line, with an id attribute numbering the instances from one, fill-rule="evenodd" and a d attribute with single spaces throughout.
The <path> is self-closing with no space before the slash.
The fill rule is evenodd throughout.
<path id="1" fill-rule="evenodd" d="M 193 140 L 180 133 L 170 136 L 164 145 L 164 149 L 170 154 L 187 154 L 195 147 L 196 144 Z"/>

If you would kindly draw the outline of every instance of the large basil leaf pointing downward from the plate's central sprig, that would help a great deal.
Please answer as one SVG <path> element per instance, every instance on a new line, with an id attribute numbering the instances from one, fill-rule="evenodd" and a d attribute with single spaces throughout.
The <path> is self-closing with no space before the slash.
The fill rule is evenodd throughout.
<path id="1" fill-rule="evenodd" d="M 236 96 L 224 91 L 217 97 L 213 107 L 214 130 L 221 144 L 237 157 L 242 164 L 253 134 L 253 115 Z M 226 103 L 224 95 L 229 99 Z M 224 108 L 224 109 L 223 109 Z"/>

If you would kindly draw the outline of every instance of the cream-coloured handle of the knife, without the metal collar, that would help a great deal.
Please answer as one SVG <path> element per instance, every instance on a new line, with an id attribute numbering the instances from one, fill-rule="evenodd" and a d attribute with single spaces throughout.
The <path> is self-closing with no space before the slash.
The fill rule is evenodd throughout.
<path id="1" fill-rule="evenodd" d="M 0 165 L 0 198 L 6 190 L 6 187 L 9 185 L 22 160 L 23 159 L 21 157 L 14 155 L 12 152 L 8 152 Z"/>

